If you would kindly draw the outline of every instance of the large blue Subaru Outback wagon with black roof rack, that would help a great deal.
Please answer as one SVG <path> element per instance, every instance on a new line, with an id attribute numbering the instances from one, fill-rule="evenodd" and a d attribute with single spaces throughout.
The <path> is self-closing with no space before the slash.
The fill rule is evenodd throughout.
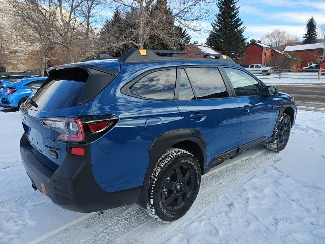
<path id="1" fill-rule="evenodd" d="M 78 212 L 138 203 L 160 221 L 183 216 L 224 160 L 284 149 L 296 117 L 293 97 L 225 55 L 137 49 L 56 67 L 20 111 L 35 190 Z"/>

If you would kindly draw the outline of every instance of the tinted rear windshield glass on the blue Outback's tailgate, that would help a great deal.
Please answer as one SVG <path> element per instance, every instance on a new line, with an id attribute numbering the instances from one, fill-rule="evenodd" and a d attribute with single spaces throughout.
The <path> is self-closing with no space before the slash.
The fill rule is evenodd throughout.
<path id="1" fill-rule="evenodd" d="M 32 97 L 38 105 L 32 109 L 47 111 L 75 106 L 85 84 L 74 80 L 52 80 Z"/>

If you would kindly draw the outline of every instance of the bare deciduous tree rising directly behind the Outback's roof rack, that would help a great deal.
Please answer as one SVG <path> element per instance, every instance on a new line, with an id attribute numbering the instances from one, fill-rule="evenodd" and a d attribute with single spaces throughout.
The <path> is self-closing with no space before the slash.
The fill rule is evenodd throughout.
<path id="1" fill-rule="evenodd" d="M 154 4 L 160 2 L 171 8 L 171 18 L 178 24 L 191 29 L 201 31 L 197 25 L 198 21 L 210 15 L 212 0 L 111 0 L 119 5 L 122 14 L 128 14 L 133 27 L 127 30 L 128 35 L 121 42 L 108 42 L 109 46 L 121 46 L 131 44 L 138 48 L 143 48 L 151 34 L 164 39 L 170 43 L 173 37 L 166 26 L 166 14 L 164 9 L 153 9 Z M 166 32 L 166 30 L 168 30 Z M 136 40 L 134 37 L 137 37 Z"/>

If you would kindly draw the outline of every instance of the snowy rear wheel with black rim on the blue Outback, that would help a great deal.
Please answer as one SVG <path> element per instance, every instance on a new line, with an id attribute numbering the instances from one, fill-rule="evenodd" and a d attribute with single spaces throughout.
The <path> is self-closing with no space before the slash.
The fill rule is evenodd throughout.
<path id="1" fill-rule="evenodd" d="M 160 222 L 186 214 L 201 182 L 200 165 L 188 151 L 170 148 L 160 157 L 149 182 L 147 209 Z"/>

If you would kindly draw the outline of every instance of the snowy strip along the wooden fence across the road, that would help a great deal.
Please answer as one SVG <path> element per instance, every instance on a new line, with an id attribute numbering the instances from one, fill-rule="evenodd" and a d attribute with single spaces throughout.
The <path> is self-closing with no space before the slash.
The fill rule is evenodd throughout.
<path id="1" fill-rule="evenodd" d="M 279 74 L 261 75 L 255 74 L 266 84 L 324 84 L 325 85 L 325 74 L 322 73 L 320 80 L 317 80 L 317 73 L 282 73 L 281 79 Z"/>

